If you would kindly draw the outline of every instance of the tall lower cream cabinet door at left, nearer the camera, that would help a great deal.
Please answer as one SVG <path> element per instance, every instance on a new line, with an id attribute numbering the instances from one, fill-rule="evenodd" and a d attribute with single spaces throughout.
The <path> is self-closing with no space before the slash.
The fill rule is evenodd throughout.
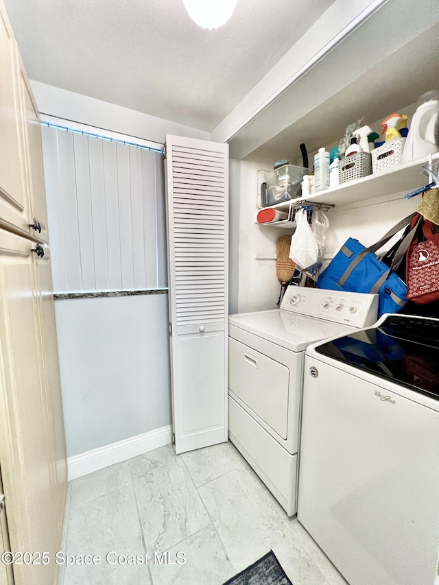
<path id="1" fill-rule="evenodd" d="M 47 552 L 52 561 L 15 565 L 16 585 L 54 585 L 60 542 L 32 247 L 0 230 L 1 472 L 12 550 Z"/>

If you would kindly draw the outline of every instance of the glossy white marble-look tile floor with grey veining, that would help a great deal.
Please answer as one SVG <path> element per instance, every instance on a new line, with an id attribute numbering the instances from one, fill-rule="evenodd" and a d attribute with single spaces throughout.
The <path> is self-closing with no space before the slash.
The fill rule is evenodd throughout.
<path id="1" fill-rule="evenodd" d="M 168 445 L 71 481 L 64 545 L 101 562 L 72 564 L 59 585 L 222 585 L 270 549 L 294 585 L 347 585 L 230 442 Z"/>

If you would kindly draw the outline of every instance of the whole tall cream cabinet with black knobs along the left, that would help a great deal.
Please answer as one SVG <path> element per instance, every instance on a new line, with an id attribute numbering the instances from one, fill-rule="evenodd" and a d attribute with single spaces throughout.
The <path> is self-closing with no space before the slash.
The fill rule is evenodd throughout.
<path id="1" fill-rule="evenodd" d="M 1 542 L 51 559 L 9 566 L 0 582 L 54 585 L 67 466 L 50 256 L 40 246 L 48 241 L 43 155 L 38 110 L 1 0 L 0 68 Z"/>

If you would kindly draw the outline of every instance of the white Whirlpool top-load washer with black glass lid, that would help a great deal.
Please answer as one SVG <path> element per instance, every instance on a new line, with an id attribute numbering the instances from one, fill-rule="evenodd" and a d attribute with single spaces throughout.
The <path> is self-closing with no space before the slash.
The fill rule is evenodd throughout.
<path id="1" fill-rule="evenodd" d="M 350 585 L 433 585 L 439 320 L 384 315 L 306 353 L 298 520 Z"/>

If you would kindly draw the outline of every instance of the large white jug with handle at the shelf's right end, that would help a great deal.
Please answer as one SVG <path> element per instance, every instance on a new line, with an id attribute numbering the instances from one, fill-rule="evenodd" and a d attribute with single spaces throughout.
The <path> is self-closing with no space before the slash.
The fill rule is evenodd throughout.
<path id="1" fill-rule="evenodd" d="M 410 132 L 405 139 L 401 165 L 438 150 L 434 139 L 434 129 L 439 116 L 439 91 L 423 93 L 418 99 L 418 104 L 418 109 L 412 117 Z"/>

